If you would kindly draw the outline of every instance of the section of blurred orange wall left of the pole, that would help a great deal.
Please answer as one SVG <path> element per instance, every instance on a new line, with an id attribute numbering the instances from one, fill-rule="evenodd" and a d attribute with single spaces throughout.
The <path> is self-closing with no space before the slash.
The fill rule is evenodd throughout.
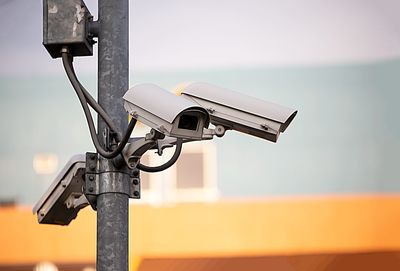
<path id="1" fill-rule="evenodd" d="M 0 263 L 94 262 L 96 214 L 81 212 L 65 227 L 38 224 L 30 208 L 0 208 Z"/>

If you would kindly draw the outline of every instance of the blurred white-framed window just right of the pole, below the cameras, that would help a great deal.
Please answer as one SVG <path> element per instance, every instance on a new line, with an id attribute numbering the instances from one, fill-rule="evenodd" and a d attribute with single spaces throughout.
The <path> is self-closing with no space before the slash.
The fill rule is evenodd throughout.
<path id="1" fill-rule="evenodd" d="M 162 157 L 148 151 L 141 163 L 156 166 L 170 159 L 174 148 L 164 150 Z M 201 202 L 218 198 L 216 183 L 216 150 L 212 142 L 184 145 L 178 161 L 158 173 L 141 172 L 140 201 L 134 203 Z"/>

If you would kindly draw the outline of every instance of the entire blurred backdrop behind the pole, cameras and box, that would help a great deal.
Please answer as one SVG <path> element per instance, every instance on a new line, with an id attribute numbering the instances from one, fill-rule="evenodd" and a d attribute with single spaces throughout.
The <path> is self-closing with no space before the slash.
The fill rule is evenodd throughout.
<path id="1" fill-rule="evenodd" d="M 96 19 L 97 1 L 85 3 Z M 228 131 L 142 174 L 130 269 L 399 270 L 398 10 L 397 0 L 130 1 L 131 86 L 177 93 L 203 81 L 299 111 L 277 144 Z M 0 0 L 0 24 L 0 270 L 93 270 L 94 211 L 68 227 L 31 214 L 68 159 L 94 151 L 61 60 L 42 46 L 41 1 Z M 95 56 L 74 61 L 94 96 Z"/>

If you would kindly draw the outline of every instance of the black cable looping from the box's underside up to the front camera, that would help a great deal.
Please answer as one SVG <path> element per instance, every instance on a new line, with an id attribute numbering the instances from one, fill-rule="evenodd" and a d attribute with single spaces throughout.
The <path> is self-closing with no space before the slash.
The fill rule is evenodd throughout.
<path id="1" fill-rule="evenodd" d="M 74 73 L 74 70 L 72 67 L 72 58 L 70 58 L 68 50 L 62 50 L 61 54 L 62 54 L 62 61 L 63 61 L 65 72 L 67 73 L 68 79 L 71 82 L 71 84 L 79 98 L 79 101 L 82 105 L 83 112 L 85 113 L 86 121 L 89 126 L 90 136 L 92 138 L 93 144 L 94 144 L 97 152 L 105 158 L 111 159 L 111 158 L 116 157 L 117 155 L 119 155 L 121 153 L 121 151 L 125 147 L 126 143 L 128 142 L 130 135 L 133 131 L 133 128 L 135 127 L 136 119 L 132 118 L 132 120 L 129 122 L 127 130 L 126 130 L 123 138 L 121 139 L 121 142 L 118 144 L 118 147 L 115 150 L 113 150 L 112 152 L 107 152 L 106 150 L 104 150 L 99 142 L 99 139 L 97 138 L 96 128 L 94 126 L 93 118 L 90 113 L 89 107 L 87 105 L 87 100 L 85 98 L 85 94 L 83 93 L 83 91 L 80 87 L 81 85 L 75 76 L 75 73 Z"/>

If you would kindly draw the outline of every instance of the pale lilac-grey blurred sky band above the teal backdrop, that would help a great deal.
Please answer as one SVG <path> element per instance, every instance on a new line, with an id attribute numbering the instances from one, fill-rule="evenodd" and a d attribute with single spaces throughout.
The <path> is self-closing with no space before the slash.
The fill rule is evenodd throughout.
<path id="1" fill-rule="evenodd" d="M 97 1 L 85 1 L 93 15 Z M 310 66 L 400 55 L 397 0 L 130 1 L 130 69 Z M 42 1 L 0 0 L 0 74 L 62 73 L 42 42 Z M 95 57 L 77 60 L 93 73 Z M 40 68 L 38 68 L 40 67 Z"/>

